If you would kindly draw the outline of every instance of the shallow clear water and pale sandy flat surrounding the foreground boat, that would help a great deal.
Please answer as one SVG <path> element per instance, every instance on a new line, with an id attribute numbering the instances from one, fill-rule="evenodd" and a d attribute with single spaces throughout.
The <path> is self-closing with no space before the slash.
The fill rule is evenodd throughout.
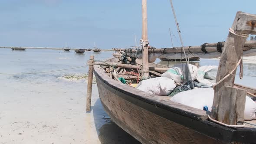
<path id="1" fill-rule="evenodd" d="M 90 55 L 103 60 L 112 51 L 99 53 L 50 49 L 12 51 L 0 49 L 0 73 L 33 73 L 86 65 Z M 167 65 L 167 61 L 156 61 Z M 176 62 L 178 63 L 178 62 Z M 218 65 L 201 59 L 200 65 Z M 169 62 L 173 65 L 174 62 Z M 244 63 L 244 78 L 236 82 L 256 87 L 256 64 Z M 139 143 L 108 117 L 93 85 L 92 111 L 85 112 L 85 80 L 60 79 L 67 74 L 84 74 L 88 67 L 30 75 L 0 74 L 0 142 L 5 143 Z M 32 128 L 33 127 L 33 128 Z M 66 138 L 63 138 L 66 137 Z"/>

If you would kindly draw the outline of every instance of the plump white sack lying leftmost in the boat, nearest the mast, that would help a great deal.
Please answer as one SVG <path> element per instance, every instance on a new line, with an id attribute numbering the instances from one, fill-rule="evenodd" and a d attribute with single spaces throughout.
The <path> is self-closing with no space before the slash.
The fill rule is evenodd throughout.
<path id="1" fill-rule="evenodd" d="M 137 89 L 148 92 L 153 95 L 162 95 L 166 96 L 169 95 L 176 85 L 174 84 L 174 80 L 169 78 L 153 78 L 147 79 L 139 82 Z"/>

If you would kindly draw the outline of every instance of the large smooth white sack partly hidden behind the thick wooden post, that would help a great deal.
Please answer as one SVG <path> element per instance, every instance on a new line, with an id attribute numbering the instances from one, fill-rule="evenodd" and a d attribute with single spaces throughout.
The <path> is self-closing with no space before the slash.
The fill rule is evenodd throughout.
<path id="1" fill-rule="evenodd" d="M 206 105 L 208 110 L 211 111 L 213 106 L 213 97 L 213 88 L 197 88 L 190 91 L 180 92 L 177 95 L 174 95 L 170 100 L 201 110 L 203 110 L 203 106 Z M 252 120 L 255 117 L 255 111 L 255 101 L 246 96 L 244 119 Z"/>

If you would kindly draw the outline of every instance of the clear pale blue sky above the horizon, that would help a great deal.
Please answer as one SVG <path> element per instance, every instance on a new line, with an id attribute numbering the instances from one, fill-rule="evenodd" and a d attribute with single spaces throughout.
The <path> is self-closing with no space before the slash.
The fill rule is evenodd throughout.
<path id="1" fill-rule="evenodd" d="M 148 0 L 148 40 L 181 46 L 169 0 Z M 173 0 L 184 46 L 225 41 L 237 11 L 256 14 L 256 0 Z M 91 48 L 135 46 L 141 0 L 0 0 L 0 46 Z"/>

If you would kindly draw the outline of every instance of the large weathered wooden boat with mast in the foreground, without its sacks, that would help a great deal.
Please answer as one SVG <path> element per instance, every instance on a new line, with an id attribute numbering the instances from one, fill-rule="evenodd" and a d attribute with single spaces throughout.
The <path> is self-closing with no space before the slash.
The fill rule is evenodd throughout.
<path id="1" fill-rule="evenodd" d="M 171 7 L 173 9 L 172 2 Z M 125 52 L 126 56 L 130 56 L 130 58 L 134 56 L 136 61 L 131 59 L 131 63 L 128 65 L 125 64 L 129 61 L 127 59 L 122 64 L 121 56 L 117 56 L 105 62 L 93 62 L 94 56 L 91 56 L 89 74 L 94 69 L 99 97 L 109 117 L 143 144 L 256 143 L 256 120 L 244 121 L 243 115 L 246 93 L 256 97 L 256 89 L 234 84 L 235 70 L 241 63 L 246 37 L 249 34 L 256 34 L 256 15 L 237 12 L 223 47 L 223 52 L 222 46 L 217 46 L 217 49 L 216 47 L 210 48 L 212 49 L 211 52 L 220 52 L 221 58 L 217 83 L 214 88 L 213 106 L 209 115 L 207 111 L 170 101 L 170 97 L 167 96 L 143 92 L 118 80 L 113 67 L 138 70 L 142 65 L 141 77 L 143 79 L 147 79 L 149 73 L 160 76 L 161 72 L 168 70 L 166 66 L 149 63 L 149 53 L 175 54 L 175 50 L 179 52 L 183 50 L 184 56 L 186 56 L 183 44 L 181 44 L 181 48 L 164 49 L 164 51 L 163 49 L 152 49 L 152 51 L 148 49 L 146 12 L 146 0 L 142 0 L 141 45 L 143 50 L 117 49 Z M 175 22 L 177 24 L 176 18 Z M 177 29 L 179 32 L 178 25 Z M 203 44 L 199 47 L 200 49 L 189 46 L 188 51 L 192 53 L 199 50 L 198 52 L 202 51 L 204 55 L 207 54 L 206 49 L 209 45 Z M 142 52 L 142 60 L 138 58 L 138 55 L 134 55 L 141 54 L 140 52 Z M 133 54 L 129 55 L 129 53 Z M 113 70 L 111 71 L 111 69 Z M 233 70 L 231 71 L 231 69 Z M 137 77 L 139 79 L 140 75 L 138 74 L 136 79 Z M 89 77 L 88 83 L 92 85 L 92 75 L 89 75 Z M 127 78 L 131 79 L 129 75 Z M 91 87 L 90 85 L 88 84 L 88 88 Z M 225 89 L 223 90 L 223 88 Z M 90 95 L 90 91 L 87 92 L 88 95 Z M 87 100 L 91 100 L 90 96 L 87 97 Z M 87 110 L 87 106 L 86 111 L 89 111 L 90 109 Z"/>

